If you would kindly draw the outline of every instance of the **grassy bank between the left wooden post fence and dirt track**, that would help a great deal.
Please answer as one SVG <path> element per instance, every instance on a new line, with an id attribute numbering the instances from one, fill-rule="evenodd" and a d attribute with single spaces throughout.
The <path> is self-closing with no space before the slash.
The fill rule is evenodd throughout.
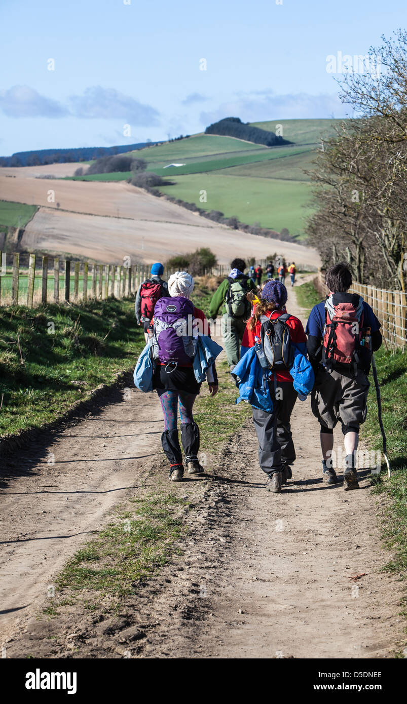
<path id="1" fill-rule="evenodd" d="M 0 308 L 0 438 L 39 428 L 134 367 L 132 301 Z"/>

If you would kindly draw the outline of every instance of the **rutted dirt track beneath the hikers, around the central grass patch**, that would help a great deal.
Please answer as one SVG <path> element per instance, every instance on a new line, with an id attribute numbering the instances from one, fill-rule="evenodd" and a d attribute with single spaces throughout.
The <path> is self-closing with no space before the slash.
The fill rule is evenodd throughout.
<path id="1" fill-rule="evenodd" d="M 298 310 L 291 290 L 289 310 Z M 149 422 L 141 420 L 142 401 Z M 131 401 L 118 396 L 49 446 L 39 445 L 37 456 L 27 448 L 2 496 L 0 644 L 11 637 L 9 656 L 392 657 L 403 639 L 403 591 L 380 571 L 391 556 L 380 543 L 381 506 L 364 477 L 368 470 L 359 491 L 323 485 L 308 401 L 296 403 L 292 426 L 297 461 L 280 495 L 264 489 L 252 422 L 211 458 L 206 477 L 170 484 L 160 459 L 158 405 L 138 393 Z M 50 452 L 54 467 L 46 465 Z M 160 482 L 194 504 L 182 558 L 127 600 L 125 617 L 106 620 L 103 609 L 89 615 L 73 607 L 49 623 L 33 619 L 46 605 L 52 575 L 106 522 L 111 505 Z M 130 644 L 120 645 L 129 629 L 139 633 L 137 642 L 128 636 Z"/>

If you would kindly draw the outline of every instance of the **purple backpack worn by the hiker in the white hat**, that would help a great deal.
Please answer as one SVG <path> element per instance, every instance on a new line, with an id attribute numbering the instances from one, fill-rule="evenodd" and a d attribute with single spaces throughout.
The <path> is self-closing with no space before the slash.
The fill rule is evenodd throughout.
<path id="1" fill-rule="evenodd" d="M 160 298 L 154 308 L 153 356 L 163 364 L 191 364 L 196 352 L 192 335 L 194 306 L 183 296 Z"/>

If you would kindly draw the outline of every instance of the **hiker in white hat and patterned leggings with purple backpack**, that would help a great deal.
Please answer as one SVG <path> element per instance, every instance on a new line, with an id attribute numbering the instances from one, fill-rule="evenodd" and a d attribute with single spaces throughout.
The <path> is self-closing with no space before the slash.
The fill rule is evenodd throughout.
<path id="1" fill-rule="evenodd" d="M 164 432 L 161 435 L 163 451 L 170 462 L 170 480 L 181 482 L 184 475 L 182 451 L 178 437 L 177 406 L 180 406 L 181 443 L 189 474 L 204 472 L 199 463 L 199 427 L 194 421 L 192 408 L 201 389 L 194 373 L 194 340 L 197 332 L 209 334 L 209 323 L 205 314 L 195 308 L 191 301 L 194 279 L 185 271 L 177 271 L 168 279 L 169 296 L 160 298 L 154 309 L 154 318 L 149 327 L 156 369 L 153 389 L 161 401 L 164 416 Z M 180 324 L 185 321 L 187 335 L 180 335 Z M 218 347 L 218 346 L 217 346 Z M 219 348 L 220 349 L 220 348 Z M 209 393 L 218 391 L 215 363 L 206 370 Z"/>

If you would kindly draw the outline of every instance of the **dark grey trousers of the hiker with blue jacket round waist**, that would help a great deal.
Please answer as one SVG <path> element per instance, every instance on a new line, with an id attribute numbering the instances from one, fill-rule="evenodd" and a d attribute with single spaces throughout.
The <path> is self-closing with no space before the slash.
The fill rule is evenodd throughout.
<path id="1" fill-rule="evenodd" d="M 253 421 L 258 439 L 258 461 L 266 474 L 280 472 L 283 464 L 292 465 L 295 448 L 292 441 L 290 418 L 297 393 L 292 382 L 277 382 L 277 399 L 273 413 L 253 408 Z M 270 384 L 274 399 L 274 384 Z M 281 396 L 279 399 L 278 396 Z"/>

